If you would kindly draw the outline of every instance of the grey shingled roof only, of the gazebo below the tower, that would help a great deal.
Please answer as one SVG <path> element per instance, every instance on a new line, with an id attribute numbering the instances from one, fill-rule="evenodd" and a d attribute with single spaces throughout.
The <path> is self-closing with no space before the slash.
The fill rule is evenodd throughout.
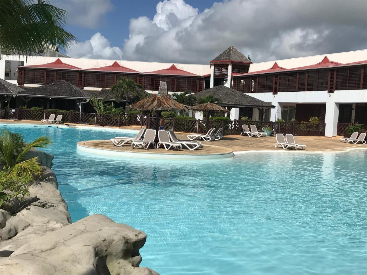
<path id="1" fill-rule="evenodd" d="M 215 86 L 210 89 L 206 89 L 201 92 L 193 94 L 196 98 L 204 97 L 206 95 L 214 95 L 221 100 L 217 103 L 220 106 L 232 106 L 232 107 L 253 107 L 253 108 L 275 108 L 272 104 L 254 98 L 249 95 L 245 95 L 234 89 L 225 87 L 223 85 Z"/>

